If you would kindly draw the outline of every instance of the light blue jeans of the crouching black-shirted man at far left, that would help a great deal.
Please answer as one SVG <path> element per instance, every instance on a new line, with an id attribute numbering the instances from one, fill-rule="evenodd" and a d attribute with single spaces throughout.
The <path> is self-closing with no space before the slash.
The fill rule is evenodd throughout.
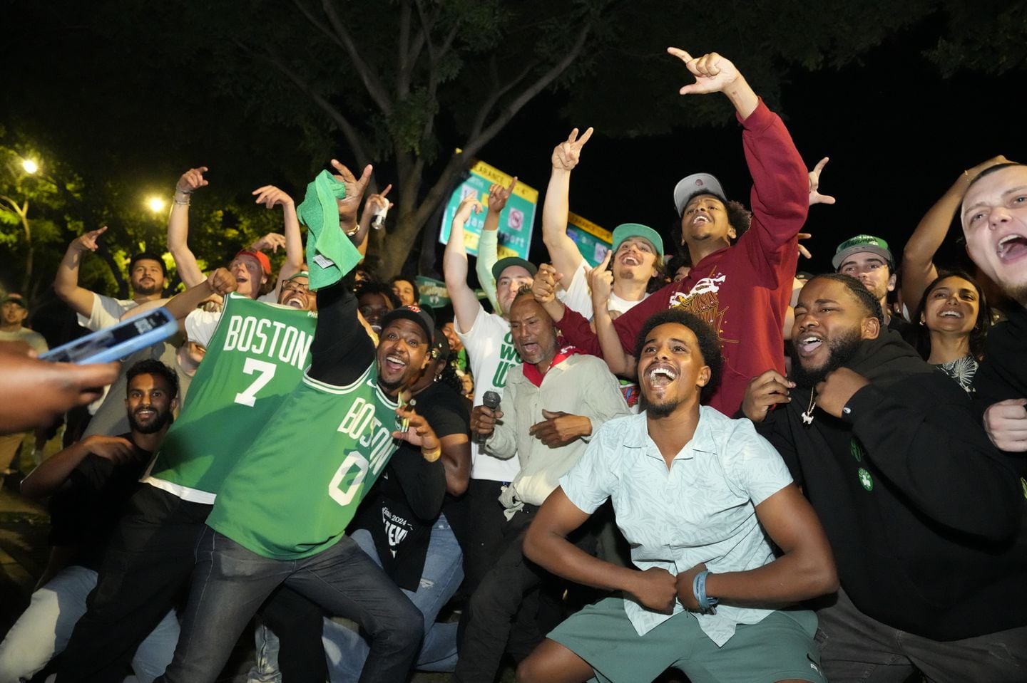
<path id="1" fill-rule="evenodd" d="M 32 594 L 28 609 L 0 643 L 0 683 L 29 680 L 64 651 L 96 586 L 96 571 L 72 565 Z M 179 620 L 173 610 L 136 650 L 131 667 L 140 683 L 150 683 L 164 672 L 178 641 Z"/>

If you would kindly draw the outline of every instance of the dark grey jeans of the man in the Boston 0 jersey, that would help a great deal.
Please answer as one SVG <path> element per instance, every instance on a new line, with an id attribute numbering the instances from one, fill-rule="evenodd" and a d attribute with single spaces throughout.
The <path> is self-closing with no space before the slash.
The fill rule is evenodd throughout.
<path id="1" fill-rule="evenodd" d="M 175 659 L 161 680 L 213 683 L 239 634 L 271 592 L 287 585 L 371 638 L 359 680 L 406 680 L 424 633 L 421 613 L 348 536 L 302 560 L 273 560 L 204 527 Z"/>

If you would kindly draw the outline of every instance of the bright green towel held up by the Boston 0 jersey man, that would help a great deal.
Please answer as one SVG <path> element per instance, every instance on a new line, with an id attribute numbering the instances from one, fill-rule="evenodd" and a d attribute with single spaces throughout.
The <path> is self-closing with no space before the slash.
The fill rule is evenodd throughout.
<path id="1" fill-rule="evenodd" d="M 327 170 L 322 170 L 307 186 L 303 203 L 296 213 L 308 229 L 307 266 L 310 268 L 310 289 L 334 285 L 360 263 L 360 252 L 339 227 L 337 199 L 346 196 L 346 186 Z"/>

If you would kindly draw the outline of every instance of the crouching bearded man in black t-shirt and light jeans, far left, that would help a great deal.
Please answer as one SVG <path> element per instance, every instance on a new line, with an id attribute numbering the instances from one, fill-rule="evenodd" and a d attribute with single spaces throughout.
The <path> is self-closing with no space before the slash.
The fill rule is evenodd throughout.
<path id="1" fill-rule="evenodd" d="M 178 405 L 178 378 L 163 363 L 145 360 L 127 372 L 123 399 L 129 431 L 90 436 L 46 459 L 24 482 L 31 499 L 50 498 L 53 550 L 41 588 L 0 644 L 0 681 L 31 679 L 64 650 L 97 585 L 101 556 L 118 512 L 138 486 L 150 454 L 164 438 Z M 149 683 L 172 659 L 179 637 L 175 613 L 164 610 L 132 659 L 137 678 Z"/>

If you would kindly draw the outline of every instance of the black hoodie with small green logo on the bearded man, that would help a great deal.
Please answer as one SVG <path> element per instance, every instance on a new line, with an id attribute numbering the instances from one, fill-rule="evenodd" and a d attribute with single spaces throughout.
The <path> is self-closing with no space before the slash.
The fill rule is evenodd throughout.
<path id="1" fill-rule="evenodd" d="M 820 516 L 841 586 L 872 618 L 934 640 L 1027 626 L 1025 501 L 966 393 L 885 331 L 844 364 L 871 380 L 843 418 L 809 387 L 757 425 Z"/>

